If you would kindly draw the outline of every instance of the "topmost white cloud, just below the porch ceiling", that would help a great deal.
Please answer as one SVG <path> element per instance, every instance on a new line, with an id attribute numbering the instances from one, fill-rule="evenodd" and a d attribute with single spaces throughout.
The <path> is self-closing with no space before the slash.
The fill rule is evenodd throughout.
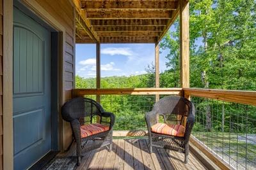
<path id="1" fill-rule="evenodd" d="M 131 56 L 134 55 L 134 52 L 132 52 L 131 48 L 103 48 L 101 50 L 101 53 L 108 54 L 108 55 L 125 55 L 125 56 Z"/>

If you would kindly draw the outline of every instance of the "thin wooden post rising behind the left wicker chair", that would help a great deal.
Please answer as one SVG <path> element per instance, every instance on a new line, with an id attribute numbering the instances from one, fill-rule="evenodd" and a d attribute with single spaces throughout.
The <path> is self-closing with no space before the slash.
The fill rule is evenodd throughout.
<path id="1" fill-rule="evenodd" d="M 100 43 L 96 43 L 96 88 L 100 89 Z M 100 103 L 100 95 L 96 95 L 96 101 Z M 100 123 L 100 117 L 97 117 L 97 123 Z"/>

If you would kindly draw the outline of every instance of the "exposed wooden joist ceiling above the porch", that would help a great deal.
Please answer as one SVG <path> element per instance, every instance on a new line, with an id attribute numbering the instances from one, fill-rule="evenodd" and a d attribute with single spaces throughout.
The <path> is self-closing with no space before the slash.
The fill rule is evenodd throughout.
<path id="1" fill-rule="evenodd" d="M 179 13 L 178 0 L 74 0 L 76 43 L 157 43 Z"/>

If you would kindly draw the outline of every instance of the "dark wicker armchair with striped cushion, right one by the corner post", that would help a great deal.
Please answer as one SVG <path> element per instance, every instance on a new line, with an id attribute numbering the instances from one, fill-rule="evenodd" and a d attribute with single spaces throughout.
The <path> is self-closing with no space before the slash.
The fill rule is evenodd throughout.
<path id="1" fill-rule="evenodd" d="M 164 123 L 158 123 L 157 117 L 163 116 Z M 185 119 L 187 117 L 187 119 Z M 146 113 L 148 144 L 152 146 L 182 152 L 184 163 L 188 163 L 189 136 L 195 122 L 195 106 L 184 97 L 168 96 L 160 99 L 152 111 Z M 186 120 L 186 128 L 184 125 Z"/>

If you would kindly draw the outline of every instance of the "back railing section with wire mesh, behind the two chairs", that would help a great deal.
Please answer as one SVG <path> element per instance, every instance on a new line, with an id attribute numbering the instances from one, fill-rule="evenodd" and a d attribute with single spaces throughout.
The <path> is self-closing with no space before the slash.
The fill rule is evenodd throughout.
<path id="1" fill-rule="evenodd" d="M 151 111 L 156 97 L 181 95 L 182 89 L 74 89 L 73 96 L 100 101 L 104 110 L 116 116 L 115 131 L 145 131 L 145 113 Z"/>

